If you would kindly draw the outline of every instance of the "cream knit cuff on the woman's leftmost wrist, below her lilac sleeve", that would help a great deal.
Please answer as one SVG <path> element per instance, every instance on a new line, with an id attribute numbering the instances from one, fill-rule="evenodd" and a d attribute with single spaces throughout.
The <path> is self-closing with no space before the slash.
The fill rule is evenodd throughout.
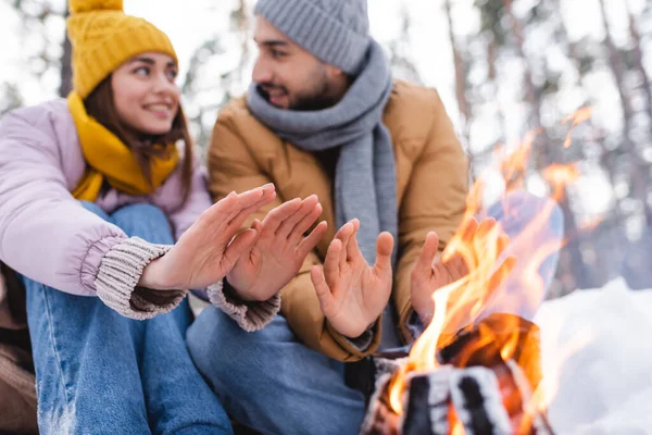
<path id="1" fill-rule="evenodd" d="M 95 281 L 98 297 L 124 316 L 146 320 L 176 308 L 187 290 L 154 290 L 139 287 L 145 268 L 172 246 L 153 245 L 130 237 L 104 254 Z"/>

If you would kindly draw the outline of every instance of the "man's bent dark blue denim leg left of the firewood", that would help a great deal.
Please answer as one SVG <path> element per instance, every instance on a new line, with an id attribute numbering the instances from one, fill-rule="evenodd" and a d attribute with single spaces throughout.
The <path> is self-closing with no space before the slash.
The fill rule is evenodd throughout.
<path id="1" fill-rule="evenodd" d="M 247 333 L 205 308 L 187 334 L 199 370 L 239 422 L 264 434 L 356 434 L 364 398 L 343 363 L 298 341 L 283 316 Z"/>

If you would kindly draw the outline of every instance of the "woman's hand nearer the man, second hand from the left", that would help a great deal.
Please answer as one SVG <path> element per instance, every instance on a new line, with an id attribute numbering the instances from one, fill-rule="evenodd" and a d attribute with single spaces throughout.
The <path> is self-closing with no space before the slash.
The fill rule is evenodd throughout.
<path id="1" fill-rule="evenodd" d="M 285 202 L 262 223 L 254 221 L 259 237 L 226 277 L 236 294 L 244 300 L 267 300 L 285 287 L 326 233 L 326 222 L 321 222 L 303 236 L 321 214 L 322 206 L 313 195 Z"/>

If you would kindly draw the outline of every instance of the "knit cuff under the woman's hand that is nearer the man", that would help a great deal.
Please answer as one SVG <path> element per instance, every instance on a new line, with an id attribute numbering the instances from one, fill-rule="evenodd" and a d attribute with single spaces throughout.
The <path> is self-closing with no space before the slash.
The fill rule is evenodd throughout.
<path id="1" fill-rule="evenodd" d="M 280 291 L 262 302 L 240 299 L 221 281 L 206 288 L 209 300 L 248 333 L 265 327 L 280 310 Z"/>

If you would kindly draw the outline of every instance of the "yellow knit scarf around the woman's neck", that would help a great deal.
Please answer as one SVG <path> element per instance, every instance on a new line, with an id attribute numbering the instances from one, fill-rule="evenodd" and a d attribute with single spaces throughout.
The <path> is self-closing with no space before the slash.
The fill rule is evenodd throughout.
<path id="1" fill-rule="evenodd" d="M 104 179 L 120 191 L 128 195 L 149 195 L 158 189 L 175 170 L 179 154 L 174 144 L 170 145 L 171 152 L 166 158 L 152 158 L 150 186 L 131 150 L 114 134 L 86 113 L 84 102 L 77 92 L 73 91 L 67 98 L 68 108 L 82 151 L 88 164 L 86 173 L 73 190 L 78 200 L 93 202 Z"/>

